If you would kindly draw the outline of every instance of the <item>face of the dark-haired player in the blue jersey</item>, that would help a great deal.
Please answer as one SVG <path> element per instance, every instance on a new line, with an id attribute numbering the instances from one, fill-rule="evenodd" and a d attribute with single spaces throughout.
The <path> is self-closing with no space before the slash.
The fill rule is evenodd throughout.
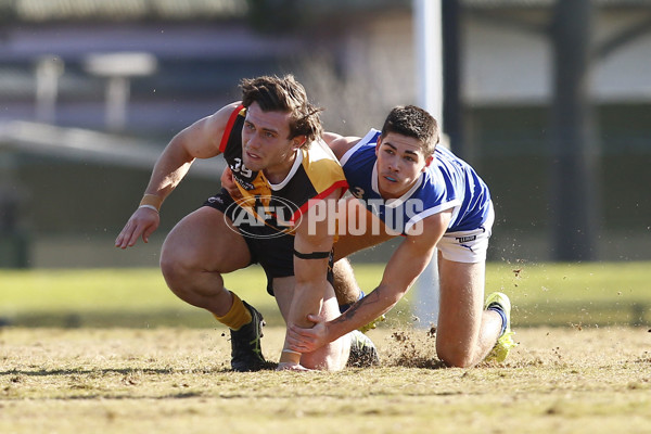
<path id="1" fill-rule="evenodd" d="M 378 187 L 384 199 L 398 199 L 407 193 L 433 157 L 425 158 L 418 139 L 390 132 L 380 137 L 378 155 Z"/>

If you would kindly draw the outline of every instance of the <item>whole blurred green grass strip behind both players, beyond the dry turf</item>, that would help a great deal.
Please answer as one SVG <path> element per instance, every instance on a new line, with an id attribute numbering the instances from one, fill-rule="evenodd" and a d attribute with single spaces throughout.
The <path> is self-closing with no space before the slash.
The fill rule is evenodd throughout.
<path id="1" fill-rule="evenodd" d="M 486 292 L 505 291 L 515 327 L 644 324 L 651 291 L 648 263 L 489 264 Z M 365 291 L 383 265 L 355 265 Z M 227 288 L 258 307 L 270 324 L 282 320 L 258 267 L 226 276 Z M 409 293 L 390 312 L 406 321 L 417 303 Z M 213 327 L 206 312 L 186 305 L 158 269 L 1 270 L 0 320 L 26 327 Z"/>

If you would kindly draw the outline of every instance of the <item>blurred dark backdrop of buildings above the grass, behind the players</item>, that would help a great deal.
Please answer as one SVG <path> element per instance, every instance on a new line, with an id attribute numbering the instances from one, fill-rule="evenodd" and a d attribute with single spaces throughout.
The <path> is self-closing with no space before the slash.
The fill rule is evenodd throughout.
<path id="1" fill-rule="evenodd" d="M 0 0 L 0 267 L 157 266 L 220 158 L 191 169 L 149 245 L 115 237 L 171 137 L 243 77 L 293 73 L 344 135 L 418 104 L 414 4 Z M 444 131 L 492 190 L 489 259 L 651 259 L 651 1 L 441 4 Z"/>

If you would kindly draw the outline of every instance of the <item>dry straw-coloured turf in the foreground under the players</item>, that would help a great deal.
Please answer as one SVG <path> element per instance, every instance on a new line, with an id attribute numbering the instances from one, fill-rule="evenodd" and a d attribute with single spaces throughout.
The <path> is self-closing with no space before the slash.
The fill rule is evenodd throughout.
<path id="1" fill-rule="evenodd" d="M 649 433 L 651 333 L 531 328 L 503 366 L 443 369 L 424 332 L 382 366 L 234 373 L 210 329 L 5 329 L 1 433 Z M 405 339 L 405 336 L 407 336 Z M 267 357 L 282 328 L 264 339 Z M 410 361 L 411 360 L 411 361 Z"/>

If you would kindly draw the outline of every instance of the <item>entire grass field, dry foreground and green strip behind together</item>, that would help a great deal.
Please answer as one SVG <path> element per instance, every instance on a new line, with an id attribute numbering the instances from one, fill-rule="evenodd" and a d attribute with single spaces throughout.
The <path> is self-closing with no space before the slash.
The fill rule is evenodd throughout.
<path id="1" fill-rule="evenodd" d="M 414 295 L 369 334 L 373 369 L 228 371 L 226 330 L 158 270 L 0 271 L 0 433 L 651 433 L 648 264 L 490 265 L 511 295 L 506 363 L 446 369 Z M 382 269 L 357 266 L 365 289 Z M 227 285 L 283 340 L 263 275 Z"/>

